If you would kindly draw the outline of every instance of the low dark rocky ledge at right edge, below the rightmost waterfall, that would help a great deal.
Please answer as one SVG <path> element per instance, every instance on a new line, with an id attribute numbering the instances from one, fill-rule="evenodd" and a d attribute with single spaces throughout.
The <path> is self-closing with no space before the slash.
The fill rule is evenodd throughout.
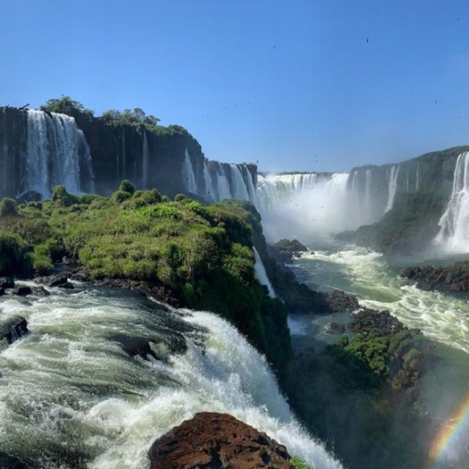
<path id="1" fill-rule="evenodd" d="M 417 288 L 461 293 L 469 290 L 469 261 L 456 262 L 451 267 L 409 267 L 401 277 L 416 280 Z"/>

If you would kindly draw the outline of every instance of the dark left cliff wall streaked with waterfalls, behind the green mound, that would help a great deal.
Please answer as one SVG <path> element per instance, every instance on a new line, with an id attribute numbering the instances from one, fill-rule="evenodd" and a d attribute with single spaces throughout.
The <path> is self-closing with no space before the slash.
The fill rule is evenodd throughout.
<path id="1" fill-rule="evenodd" d="M 58 183 L 70 192 L 110 195 L 123 179 L 169 197 L 179 192 L 208 201 L 255 197 L 255 165 L 207 160 L 199 142 L 179 125 L 149 132 L 143 124 L 78 115 L 70 125 L 69 118 L 57 116 L 0 107 L 0 198 L 31 190 L 49 197 Z M 88 149 L 73 159 L 77 141 L 86 141 Z"/>

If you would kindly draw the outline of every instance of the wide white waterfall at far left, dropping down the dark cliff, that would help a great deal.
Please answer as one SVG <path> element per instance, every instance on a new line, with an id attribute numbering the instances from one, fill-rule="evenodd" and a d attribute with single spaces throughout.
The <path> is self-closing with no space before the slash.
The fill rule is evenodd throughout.
<path id="1" fill-rule="evenodd" d="M 94 191 L 90 149 L 75 120 L 68 115 L 28 110 L 26 174 L 23 188 L 50 197 L 57 184 L 68 192 L 81 193 L 81 169 L 89 181 L 86 189 Z"/>

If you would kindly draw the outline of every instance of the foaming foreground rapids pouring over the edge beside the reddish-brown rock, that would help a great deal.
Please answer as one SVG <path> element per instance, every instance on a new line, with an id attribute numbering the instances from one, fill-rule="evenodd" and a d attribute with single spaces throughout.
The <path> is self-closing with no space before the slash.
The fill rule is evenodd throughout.
<path id="1" fill-rule="evenodd" d="M 266 431 L 318 469 L 341 467 L 294 420 L 265 359 L 235 328 L 200 311 L 166 310 L 139 294 L 78 285 L 51 296 L 5 295 L 2 319 L 30 334 L 0 341 L 0 449 L 41 468 L 146 468 L 151 442 L 200 411 Z M 183 333 L 185 354 L 167 337 Z M 131 358 L 142 337 L 166 360 Z"/>

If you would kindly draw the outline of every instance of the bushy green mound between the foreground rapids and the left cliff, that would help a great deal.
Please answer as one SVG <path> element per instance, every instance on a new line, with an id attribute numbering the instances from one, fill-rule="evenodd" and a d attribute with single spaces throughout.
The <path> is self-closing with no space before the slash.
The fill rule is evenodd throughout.
<path id="1" fill-rule="evenodd" d="M 254 275 L 253 233 L 261 227 L 249 202 L 170 201 L 123 181 L 110 198 L 56 186 L 52 200 L 7 211 L 0 275 L 42 275 L 66 256 L 93 278 L 162 283 L 183 306 L 231 321 L 275 369 L 291 357 L 285 306 Z"/>

